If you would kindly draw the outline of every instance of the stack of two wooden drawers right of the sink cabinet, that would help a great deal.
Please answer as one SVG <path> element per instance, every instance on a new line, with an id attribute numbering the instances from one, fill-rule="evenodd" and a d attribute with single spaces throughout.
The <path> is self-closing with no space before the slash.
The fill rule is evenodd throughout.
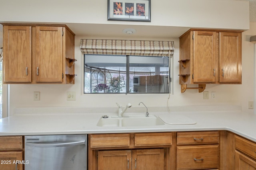
<path id="1" fill-rule="evenodd" d="M 219 168 L 219 131 L 177 133 L 177 170 Z"/>

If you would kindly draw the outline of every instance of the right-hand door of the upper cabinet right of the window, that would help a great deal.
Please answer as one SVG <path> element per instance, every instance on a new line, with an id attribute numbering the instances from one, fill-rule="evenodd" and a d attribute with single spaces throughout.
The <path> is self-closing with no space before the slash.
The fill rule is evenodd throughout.
<path id="1" fill-rule="evenodd" d="M 220 32 L 220 83 L 242 82 L 242 33 Z"/>

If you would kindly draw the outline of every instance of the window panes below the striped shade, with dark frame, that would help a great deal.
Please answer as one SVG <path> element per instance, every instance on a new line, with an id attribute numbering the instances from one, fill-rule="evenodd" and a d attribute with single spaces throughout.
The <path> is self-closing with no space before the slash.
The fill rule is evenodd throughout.
<path id="1" fill-rule="evenodd" d="M 169 93 L 169 57 L 84 55 L 84 93 Z"/>

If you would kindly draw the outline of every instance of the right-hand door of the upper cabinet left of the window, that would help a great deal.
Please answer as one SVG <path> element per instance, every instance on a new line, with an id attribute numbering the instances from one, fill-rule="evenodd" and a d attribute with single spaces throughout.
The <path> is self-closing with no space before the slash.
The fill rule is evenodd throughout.
<path id="1" fill-rule="evenodd" d="M 62 27 L 36 27 L 36 82 L 62 82 Z"/>

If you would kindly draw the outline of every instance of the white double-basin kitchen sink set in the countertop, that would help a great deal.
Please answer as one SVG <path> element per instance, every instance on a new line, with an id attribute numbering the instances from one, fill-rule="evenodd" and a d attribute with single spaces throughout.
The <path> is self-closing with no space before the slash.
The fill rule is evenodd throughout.
<path id="1" fill-rule="evenodd" d="M 117 115 L 108 115 L 108 118 L 101 117 L 97 126 L 104 127 L 127 127 L 127 126 L 158 126 L 165 123 L 156 115 L 129 115 L 127 117 L 118 117 Z"/>

